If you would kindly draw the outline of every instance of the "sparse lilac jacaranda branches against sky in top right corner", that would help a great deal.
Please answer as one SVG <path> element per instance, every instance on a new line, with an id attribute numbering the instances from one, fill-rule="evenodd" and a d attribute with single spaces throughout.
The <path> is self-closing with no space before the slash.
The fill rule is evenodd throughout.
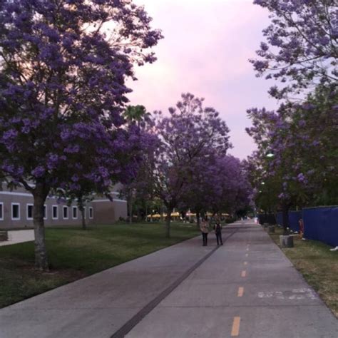
<path id="1" fill-rule="evenodd" d="M 258 76 L 275 78 L 276 98 L 338 81 L 337 0 L 254 0 L 267 9 L 266 41 L 251 60 Z"/>

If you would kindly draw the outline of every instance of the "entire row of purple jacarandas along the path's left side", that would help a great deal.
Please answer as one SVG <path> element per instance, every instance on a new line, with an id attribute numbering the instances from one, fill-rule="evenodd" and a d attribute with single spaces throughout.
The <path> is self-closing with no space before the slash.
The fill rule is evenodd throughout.
<path id="1" fill-rule="evenodd" d="M 43 204 L 80 210 L 117 182 L 168 210 L 219 212 L 248 203 L 228 128 L 184 94 L 170 116 L 127 107 L 127 78 L 163 37 L 130 0 L 0 2 L 0 178 L 34 197 L 35 264 L 48 270 Z M 170 217 L 167 221 L 170 235 Z"/>

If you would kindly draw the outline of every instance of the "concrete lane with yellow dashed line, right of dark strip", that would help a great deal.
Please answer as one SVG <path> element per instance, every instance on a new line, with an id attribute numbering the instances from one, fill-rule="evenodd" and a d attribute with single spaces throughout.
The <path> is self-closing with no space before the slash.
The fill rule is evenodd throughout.
<path id="1" fill-rule="evenodd" d="M 338 321 L 257 225 L 240 227 L 128 338 L 337 338 Z"/>

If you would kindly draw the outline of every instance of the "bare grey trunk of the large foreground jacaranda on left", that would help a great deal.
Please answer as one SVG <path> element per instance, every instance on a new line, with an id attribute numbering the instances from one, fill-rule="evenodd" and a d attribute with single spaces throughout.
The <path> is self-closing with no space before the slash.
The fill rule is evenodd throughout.
<path id="1" fill-rule="evenodd" d="M 48 257 L 46 250 L 45 227 L 43 223 L 43 205 L 48 195 L 48 188 L 43 183 L 36 183 L 33 191 L 33 223 L 34 223 L 34 251 L 35 267 L 41 271 L 48 271 Z"/>

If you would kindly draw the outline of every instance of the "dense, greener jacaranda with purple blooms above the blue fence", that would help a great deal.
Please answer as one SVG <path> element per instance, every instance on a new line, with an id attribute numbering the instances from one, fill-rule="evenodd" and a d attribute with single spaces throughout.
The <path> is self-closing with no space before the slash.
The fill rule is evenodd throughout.
<path id="1" fill-rule="evenodd" d="M 268 198 L 265 206 L 278 197 L 285 229 L 291 206 L 337 203 L 337 99 L 337 89 L 324 87 L 302 104 L 248 111 L 252 127 L 247 132 L 257 144 L 250 158 L 252 184 L 260 203 Z"/>

